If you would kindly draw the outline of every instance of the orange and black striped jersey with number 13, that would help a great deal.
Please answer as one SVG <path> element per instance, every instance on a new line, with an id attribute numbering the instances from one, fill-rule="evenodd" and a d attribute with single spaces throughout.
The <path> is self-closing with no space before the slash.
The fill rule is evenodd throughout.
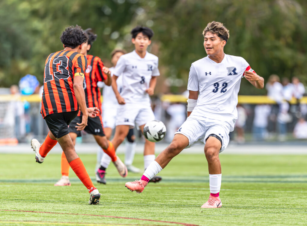
<path id="1" fill-rule="evenodd" d="M 77 111 L 73 79 L 75 73 L 84 74 L 87 58 L 75 51 L 62 50 L 48 56 L 44 71 L 41 114 Z"/>

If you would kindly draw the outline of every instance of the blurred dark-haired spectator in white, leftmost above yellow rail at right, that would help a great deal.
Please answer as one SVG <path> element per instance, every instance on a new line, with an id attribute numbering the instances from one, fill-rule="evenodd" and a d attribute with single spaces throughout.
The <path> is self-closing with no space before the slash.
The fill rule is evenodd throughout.
<path id="1" fill-rule="evenodd" d="M 276 122 L 277 115 L 279 113 L 279 105 L 282 103 L 283 95 L 282 95 L 282 84 L 280 83 L 280 79 L 278 75 L 272 74 L 270 75 L 268 82 L 266 84 L 267 96 L 276 102 L 276 104 L 272 105 L 270 118 L 268 122 L 268 132 L 271 134 L 276 131 Z"/>

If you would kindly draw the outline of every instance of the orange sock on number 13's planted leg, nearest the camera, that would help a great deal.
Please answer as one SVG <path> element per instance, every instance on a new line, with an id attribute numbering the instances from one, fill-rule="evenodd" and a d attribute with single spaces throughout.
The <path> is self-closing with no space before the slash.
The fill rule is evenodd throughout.
<path id="1" fill-rule="evenodd" d="M 89 193 L 96 189 L 80 158 L 72 160 L 69 165 L 79 177 L 84 186 L 86 186 Z"/>

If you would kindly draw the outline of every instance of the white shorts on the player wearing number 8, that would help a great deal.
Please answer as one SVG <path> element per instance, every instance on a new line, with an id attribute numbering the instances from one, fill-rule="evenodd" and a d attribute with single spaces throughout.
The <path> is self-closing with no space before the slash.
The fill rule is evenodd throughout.
<path id="1" fill-rule="evenodd" d="M 131 128 L 135 126 L 145 125 L 149 121 L 155 120 L 153 110 L 147 104 L 121 104 L 117 109 L 116 126 L 129 125 Z"/>

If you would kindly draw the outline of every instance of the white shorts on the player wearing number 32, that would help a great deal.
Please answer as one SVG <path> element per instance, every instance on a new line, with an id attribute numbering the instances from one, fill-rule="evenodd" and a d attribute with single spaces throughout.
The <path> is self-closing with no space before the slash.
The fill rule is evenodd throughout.
<path id="1" fill-rule="evenodd" d="M 175 134 L 183 134 L 188 138 L 189 145 L 186 148 L 205 144 L 210 134 L 216 134 L 223 143 L 220 149 L 221 153 L 229 143 L 229 132 L 230 125 L 227 122 L 207 118 L 196 119 L 190 116 Z"/>

